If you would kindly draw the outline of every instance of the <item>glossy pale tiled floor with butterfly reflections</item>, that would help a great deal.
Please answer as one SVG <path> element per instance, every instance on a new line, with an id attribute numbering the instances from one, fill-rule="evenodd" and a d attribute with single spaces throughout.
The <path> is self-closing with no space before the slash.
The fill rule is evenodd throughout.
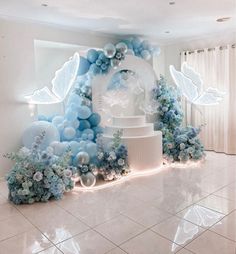
<path id="1" fill-rule="evenodd" d="M 0 183 L 0 254 L 235 254 L 236 156 L 166 168 L 61 201 L 14 206 Z"/>

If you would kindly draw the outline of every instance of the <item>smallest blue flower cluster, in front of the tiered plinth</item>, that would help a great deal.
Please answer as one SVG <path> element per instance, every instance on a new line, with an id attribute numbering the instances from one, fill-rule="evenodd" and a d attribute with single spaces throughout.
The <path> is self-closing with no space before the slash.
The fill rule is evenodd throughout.
<path id="1" fill-rule="evenodd" d="M 121 142 L 122 131 L 114 133 L 113 140 L 109 144 L 104 144 L 98 140 L 98 173 L 105 181 L 121 178 L 129 173 L 128 152 Z"/>

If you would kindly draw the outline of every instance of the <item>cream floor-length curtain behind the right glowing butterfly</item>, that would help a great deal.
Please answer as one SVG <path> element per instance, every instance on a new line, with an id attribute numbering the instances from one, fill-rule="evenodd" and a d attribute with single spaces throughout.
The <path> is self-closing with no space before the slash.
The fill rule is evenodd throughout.
<path id="1" fill-rule="evenodd" d="M 181 56 L 182 62 L 186 61 L 201 73 L 204 89 L 211 86 L 226 93 L 216 106 L 196 108 L 184 101 L 186 124 L 206 123 L 201 132 L 206 150 L 236 154 L 236 48 L 228 45 L 183 52 Z"/>

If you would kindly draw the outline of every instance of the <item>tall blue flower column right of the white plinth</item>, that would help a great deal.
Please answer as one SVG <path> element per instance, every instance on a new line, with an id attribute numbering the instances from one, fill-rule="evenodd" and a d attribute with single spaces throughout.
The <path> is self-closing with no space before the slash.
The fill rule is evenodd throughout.
<path id="1" fill-rule="evenodd" d="M 152 92 L 158 102 L 158 117 L 154 124 L 163 134 L 163 153 L 168 162 L 200 160 L 204 157 L 204 147 L 198 137 L 201 128 L 181 127 L 183 112 L 180 108 L 178 91 L 166 84 L 161 77 Z"/>

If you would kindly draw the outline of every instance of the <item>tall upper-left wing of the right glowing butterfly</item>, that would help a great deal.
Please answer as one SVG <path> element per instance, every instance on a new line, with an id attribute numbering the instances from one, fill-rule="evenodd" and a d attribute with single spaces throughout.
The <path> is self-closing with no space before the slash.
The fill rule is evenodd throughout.
<path id="1" fill-rule="evenodd" d="M 173 65 L 170 65 L 170 74 L 175 84 L 180 88 L 182 94 L 193 103 L 198 97 L 198 87 L 192 80 L 186 77 L 182 72 L 177 71 Z"/>

